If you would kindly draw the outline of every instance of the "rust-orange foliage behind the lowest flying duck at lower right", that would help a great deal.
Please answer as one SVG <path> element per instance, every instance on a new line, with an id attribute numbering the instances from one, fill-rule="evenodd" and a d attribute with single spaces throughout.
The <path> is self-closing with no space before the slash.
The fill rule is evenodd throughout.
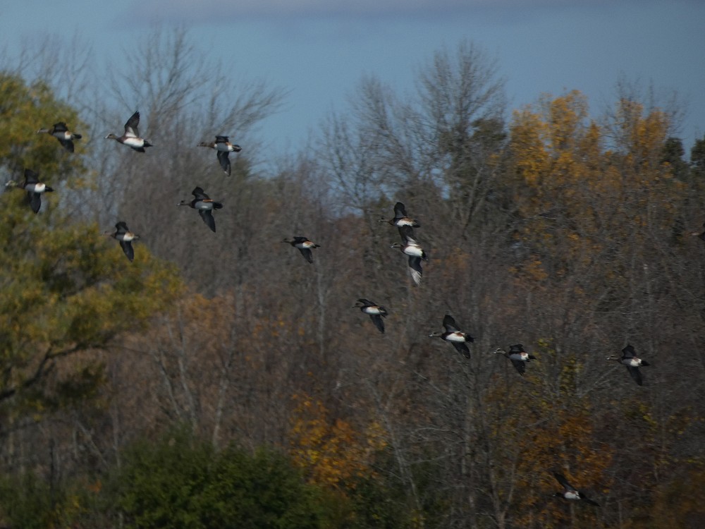
<path id="1" fill-rule="evenodd" d="M 535 351 L 544 363 L 556 355 L 548 340 L 539 340 Z M 575 392 L 575 375 L 582 363 L 575 356 L 563 353 L 563 357 L 558 388 L 541 384 L 545 377 L 537 375 L 525 398 L 513 399 L 511 407 L 503 406 L 506 387 L 501 380 L 492 384 L 488 395 L 491 406 L 502 406 L 493 418 L 490 443 L 496 458 L 514 462 L 494 472 L 501 484 L 499 496 L 510 504 L 517 527 L 565 527 L 570 520 L 565 501 L 551 499 L 553 492 L 562 490 L 553 471 L 566 475 L 597 501 L 610 485 L 605 470 L 614 450 L 594 440 L 591 403 Z M 541 369 L 538 363 L 532 367 L 534 374 Z M 596 527 L 591 509 L 580 509 L 578 518 L 576 527 Z"/>

